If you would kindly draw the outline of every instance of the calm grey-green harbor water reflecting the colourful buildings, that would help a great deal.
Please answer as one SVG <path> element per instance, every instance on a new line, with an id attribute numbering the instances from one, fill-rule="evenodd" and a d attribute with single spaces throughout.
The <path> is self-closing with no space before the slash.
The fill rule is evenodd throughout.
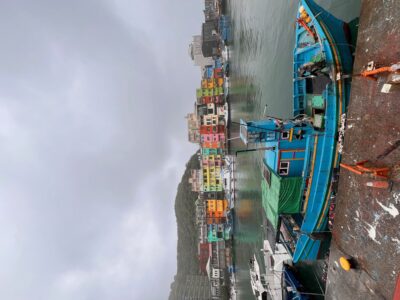
<path id="1" fill-rule="evenodd" d="M 344 21 L 359 16 L 361 0 L 316 1 Z M 228 0 L 233 41 L 230 50 L 230 149 L 244 149 L 237 139 L 240 119 L 262 119 L 266 115 L 289 117 L 292 114 L 292 51 L 294 45 L 295 0 Z M 251 148 L 251 145 L 249 145 Z M 237 299 L 252 299 L 249 259 L 255 254 L 262 270 L 266 224 L 261 206 L 260 157 L 262 153 L 239 153 L 236 159 L 236 218 L 234 253 Z M 312 268 L 305 277 L 314 292 Z M 310 271 L 311 270 L 311 271 Z M 307 282 L 306 282 L 307 283 Z"/>

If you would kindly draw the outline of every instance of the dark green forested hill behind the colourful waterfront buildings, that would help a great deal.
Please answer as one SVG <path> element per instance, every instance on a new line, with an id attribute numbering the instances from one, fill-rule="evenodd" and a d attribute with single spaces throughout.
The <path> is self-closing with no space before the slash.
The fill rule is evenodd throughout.
<path id="1" fill-rule="evenodd" d="M 197 259 L 197 231 L 195 224 L 195 205 L 198 193 L 192 192 L 189 184 L 190 170 L 199 169 L 197 153 L 186 164 L 185 173 L 178 185 L 175 197 L 175 215 L 178 226 L 177 245 L 177 274 L 171 284 L 170 300 L 176 299 L 179 290 L 184 288 L 187 275 L 199 273 L 199 261 Z"/>

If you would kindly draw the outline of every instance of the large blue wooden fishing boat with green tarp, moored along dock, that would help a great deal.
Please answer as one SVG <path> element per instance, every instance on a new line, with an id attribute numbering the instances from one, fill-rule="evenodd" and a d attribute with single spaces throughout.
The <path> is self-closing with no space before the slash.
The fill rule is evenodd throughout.
<path id="1" fill-rule="evenodd" d="M 243 142 L 264 151 L 263 208 L 294 263 L 320 258 L 329 239 L 353 64 L 344 22 L 302 0 L 296 23 L 293 117 L 240 125 Z"/>

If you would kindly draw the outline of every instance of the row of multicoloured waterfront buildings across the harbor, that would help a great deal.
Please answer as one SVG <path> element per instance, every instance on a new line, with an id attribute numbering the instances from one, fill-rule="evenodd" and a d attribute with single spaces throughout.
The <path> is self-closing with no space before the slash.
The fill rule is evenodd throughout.
<path id="1" fill-rule="evenodd" d="M 226 198 L 226 65 L 221 48 L 226 22 L 221 15 L 221 0 L 205 0 L 205 21 L 201 35 L 194 36 L 189 54 L 201 68 L 200 86 L 196 90 L 194 111 L 187 115 L 188 140 L 199 145 L 200 168 L 191 171 L 189 182 L 198 193 L 195 223 L 198 235 L 199 272 L 207 275 L 209 299 L 225 299 L 227 270 L 232 263 L 230 202 Z M 226 36 L 226 35 L 225 35 Z M 225 295 L 225 296 L 224 296 Z M 191 299 L 191 298 L 188 298 Z"/>

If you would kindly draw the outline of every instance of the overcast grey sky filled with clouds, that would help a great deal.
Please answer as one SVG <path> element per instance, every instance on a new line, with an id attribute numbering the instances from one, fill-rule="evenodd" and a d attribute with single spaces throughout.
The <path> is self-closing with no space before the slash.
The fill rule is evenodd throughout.
<path id="1" fill-rule="evenodd" d="M 0 1 L 0 299 L 166 299 L 201 0 Z"/>

